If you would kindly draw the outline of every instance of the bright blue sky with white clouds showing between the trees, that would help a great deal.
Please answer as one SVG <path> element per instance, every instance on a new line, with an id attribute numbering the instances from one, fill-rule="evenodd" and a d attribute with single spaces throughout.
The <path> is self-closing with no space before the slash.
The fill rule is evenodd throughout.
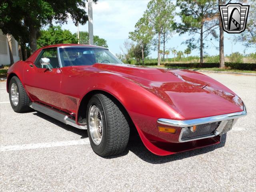
<path id="1" fill-rule="evenodd" d="M 99 0 L 97 4 L 93 4 L 93 25 L 94 35 L 100 36 L 107 40 L 107 44 L 111 52 L 114 54 L 120 53 L 120 46 L 124 40 L 128 39 L 129 32 L 134 30 L 136 22 L 142 17 L 146 10 L 149 0 Z M 176 2 L 173 1 L 175 4 Z M 176 12 L 179 9 L 176 8 Z M 249 12 L 250 14 L 250 12 Z M 175 18 L 180 20 L 178 16 Z M 62 25 L 63 29 L 68 29 L 72 33 L 77 32 L 76 26 L 72 20 L 68 20 L 67 24 Z M 84 26 L 79 26 L 80 31 L 88 31 L 88 23 Z M 224 54 L 231 54 L 233 52 L 251 53 L 256 52 L 255 48 L 246 48 L 240 43 L 233 41 L 234 34 L 224 32 Z M 184 51 L 186 45 L 182 44 L 188 39 L 188 34 L 179 36 L 174 34 L 166 44 L 166 48 L 176 48 Z M 197 38 L 197 36 L 196 36 Z M 212 43 L 218 47 L 218 40 L 213 40 Z M 206 43 L 207 44 L 207 43 Z M 209 55 L 217 55 L 218 50 L 209 42 L 209 48 L 206 51 Z M 200 55 L 199 50 L 193 50 L 191 55 Z M 151 51 L 152 58 L 157 57 L 156 51 Z M 170 55 L 169 57 L 173 57 Z"/>

